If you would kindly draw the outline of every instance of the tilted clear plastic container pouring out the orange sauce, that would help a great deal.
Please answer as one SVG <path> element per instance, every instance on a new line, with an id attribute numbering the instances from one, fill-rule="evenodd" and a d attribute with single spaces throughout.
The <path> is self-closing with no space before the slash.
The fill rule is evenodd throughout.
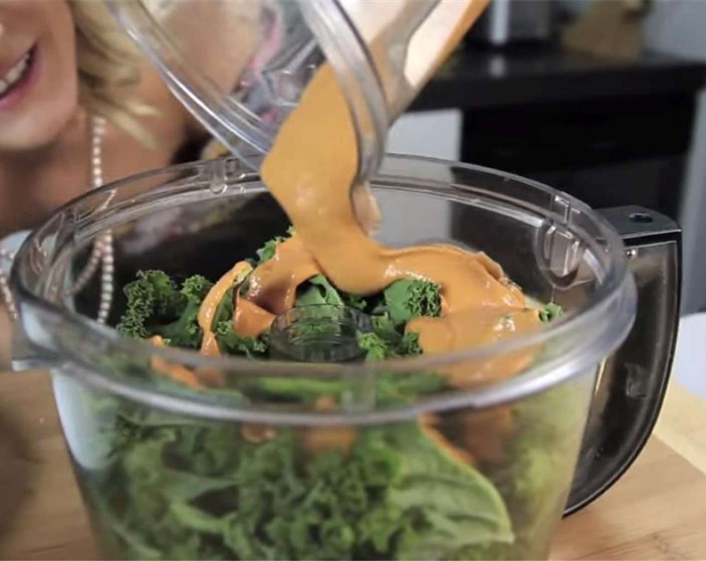
<path id="1" fill-rule="evenodd" d="M 388 126 L 489 0 L 107 0 L 174 95 L 259 169 L 316 69 L 330 64 L 357 126 L 359 175 Z"/>

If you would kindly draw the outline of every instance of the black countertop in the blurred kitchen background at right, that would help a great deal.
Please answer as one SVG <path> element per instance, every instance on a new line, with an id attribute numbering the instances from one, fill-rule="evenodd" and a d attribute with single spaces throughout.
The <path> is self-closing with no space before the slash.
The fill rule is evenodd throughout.
<path id="1" fill-rule="evenodd" d="M 634 60 L 620 60 L 572 52 L 554 44 L 467 47 L 453 55 L 410 109 L 481 109 L 696 92 L 705 83 L 706 64 L 650 52 Z"/>

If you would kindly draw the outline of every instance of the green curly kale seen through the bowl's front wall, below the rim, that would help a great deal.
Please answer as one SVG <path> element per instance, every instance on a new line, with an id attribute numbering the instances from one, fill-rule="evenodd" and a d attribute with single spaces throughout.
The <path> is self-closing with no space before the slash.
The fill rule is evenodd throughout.
<path id="1" fill-rule="evenodd" d="M 343 454 L 307 450 L 299 430 L 249 442 L 230 423 L 165 421 L 85 474 L 116 557 L 442 559 L 512 537 L 493 486 L 418 423 L 361 428 Z"/>

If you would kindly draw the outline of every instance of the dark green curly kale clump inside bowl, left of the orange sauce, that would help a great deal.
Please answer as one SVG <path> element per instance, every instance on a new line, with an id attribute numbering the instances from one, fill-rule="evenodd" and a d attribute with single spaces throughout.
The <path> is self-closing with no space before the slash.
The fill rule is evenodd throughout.
<path id="1" fill-rule="evenodd" d="M 193 275 L 177 289 L 162 271 L 140 271 L 125 286 L 127 308 L 117 330 L 140 339 L 160 335 L 171 345 L 196 349 L 202 336 L 198 308 L 211 286 L 205 277 Z"/>

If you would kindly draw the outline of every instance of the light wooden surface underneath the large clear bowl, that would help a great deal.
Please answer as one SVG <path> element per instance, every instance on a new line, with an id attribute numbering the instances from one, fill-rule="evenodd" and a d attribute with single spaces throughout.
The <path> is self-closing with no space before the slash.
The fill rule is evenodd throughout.
<path id="1" fill-rule="evenodd" d="M 0 373 L 0 557 L 97 557 L 40 372 Z M 551 557 L 706 559 L 706 402 L 671 387 L 638 462 L 561 523 Z"/>

